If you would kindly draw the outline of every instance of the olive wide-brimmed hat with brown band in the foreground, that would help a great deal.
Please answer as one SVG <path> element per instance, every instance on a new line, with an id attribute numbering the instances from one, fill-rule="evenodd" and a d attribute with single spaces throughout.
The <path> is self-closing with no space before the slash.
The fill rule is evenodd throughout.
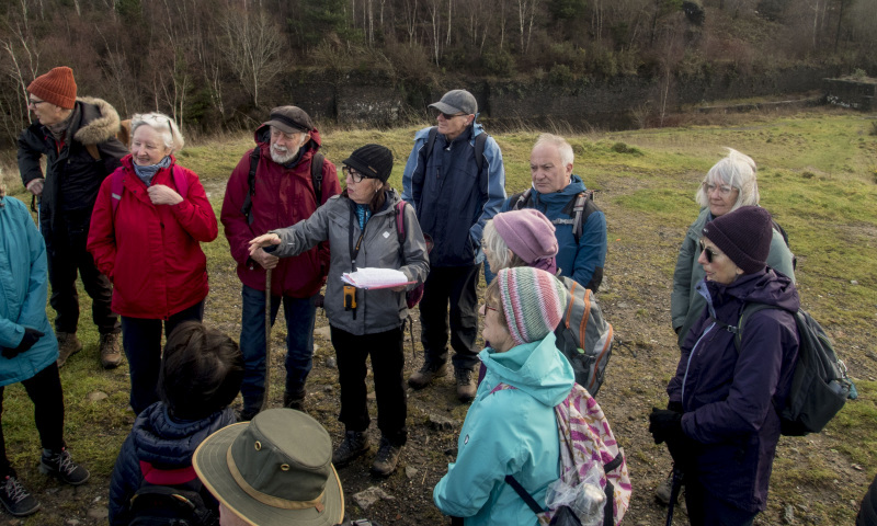
<path id="1" fill-rule="evenodd" d="M 334 526 L 344 495 L 332 466 L 332 441 L 311 416 L 262 411 L 201 443 L 192 465 L 204 485 L 254 525 Z"/>

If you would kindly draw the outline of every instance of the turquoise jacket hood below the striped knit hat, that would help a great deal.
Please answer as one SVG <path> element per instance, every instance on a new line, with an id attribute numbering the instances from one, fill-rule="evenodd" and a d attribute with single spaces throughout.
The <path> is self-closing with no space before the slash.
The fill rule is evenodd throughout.
<path id="1" fill-rule="evenodd" d="M 554 333 L 505 353 L 487 347 L 479 357 L 488 375 L 499 376 L 499 381 L 521 389 L 548 407 L 562 402 L 576 382 L 572 366 L 555 346 Z"/>

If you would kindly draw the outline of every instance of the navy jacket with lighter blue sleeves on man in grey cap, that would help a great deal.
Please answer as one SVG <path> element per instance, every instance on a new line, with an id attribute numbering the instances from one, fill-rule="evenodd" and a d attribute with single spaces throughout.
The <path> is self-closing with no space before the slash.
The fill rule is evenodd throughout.
<path id="1" fill-rule="evenodd" d="M 475 137 L 485 133 L 474 124 L 448 144 L 436 134 L 425 165 L 421 149 L 431 128 L 414 136 L 414 148 L 402 174 L 402 199 L 414 207 L 423 233 L 432 237 L 430 266 L 467 266 L 480 263 L 481 231 L 505 199 L 502 152 L 493 137 L 485 142 L 481 171 L 475 159 Z"/>

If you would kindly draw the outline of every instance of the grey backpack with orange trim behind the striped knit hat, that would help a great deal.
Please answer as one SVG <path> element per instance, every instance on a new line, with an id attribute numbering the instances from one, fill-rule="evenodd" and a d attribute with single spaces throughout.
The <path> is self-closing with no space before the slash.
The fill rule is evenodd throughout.
<path id="1" fill-rule="evenodd" d="M 555 330 L 557 348 L 576 373 L 576 384 L 596 396 L 605 379 L 612 356 L 612 324 L 603 318 L 594 293 L 569 277 L 561 277 L 567 289 L 567 308 Z"/>

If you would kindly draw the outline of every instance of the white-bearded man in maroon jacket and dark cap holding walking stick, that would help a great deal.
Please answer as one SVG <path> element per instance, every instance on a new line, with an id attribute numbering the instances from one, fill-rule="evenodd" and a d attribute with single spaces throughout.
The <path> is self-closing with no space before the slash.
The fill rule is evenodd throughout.
<path id="1" fill-rule="evenodd" d="M 252 420 L 265 396 L 265 271 L 272 270 L 271 322 L 281 301 L 286 318 L 283 404 L 299 410 L 312 365 L 316 299 L 329 271 L 326 243 L 280 260 L 262 249 L 250 255 L 248 242 L 272 229 L 307 219 L 317 207 L 341 193 L 334 164 L 319 153 L 320 134 L 300 107 L 272 110 L 269 121 L 255 130 L 255 144 L 231 172 L 220 216 L 243 284 L 240 350 L 246 371 L 241 421 Z"/>

